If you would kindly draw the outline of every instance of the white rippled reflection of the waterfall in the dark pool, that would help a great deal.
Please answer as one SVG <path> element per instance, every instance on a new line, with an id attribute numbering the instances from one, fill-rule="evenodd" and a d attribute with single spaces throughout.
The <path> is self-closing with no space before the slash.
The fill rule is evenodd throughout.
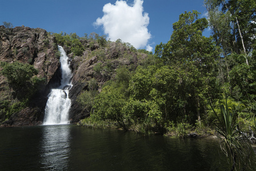
<path id="1" fill-rule="evenodd" d="M 70 154 L 70 127 L 66 125 L 43 126 L 41 140 L 41 168 L 66 170 Z"/>

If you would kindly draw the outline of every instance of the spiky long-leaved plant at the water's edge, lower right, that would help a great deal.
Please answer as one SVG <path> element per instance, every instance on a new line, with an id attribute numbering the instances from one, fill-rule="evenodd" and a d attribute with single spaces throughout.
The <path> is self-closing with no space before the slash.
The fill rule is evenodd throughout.
<path id="1" fill-rule="evenodd" d="M 215 109 L 212 105 L 211 109 L 216 118 L 215 125 L 217 136 L 221 140 L 221 149 L 230 161 L 231 170 L 248 170 L 255 159 L 255 153 L 248 135 L 242 132 L 238 125 L 238 112 L 241 112 L 243 107 L 226 97 L 216 102 L 218 104 Z"/>

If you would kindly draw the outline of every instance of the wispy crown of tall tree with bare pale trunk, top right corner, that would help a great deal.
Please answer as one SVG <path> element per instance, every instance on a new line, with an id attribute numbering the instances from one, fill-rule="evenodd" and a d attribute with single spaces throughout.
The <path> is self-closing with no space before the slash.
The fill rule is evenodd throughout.
<path id="1" fill-rule="evenodd" d="M 217 44 L 225 54 L 235 52 L 249 57 L 253 51 L 255 39 L 256 2 L 250 0 L 206 0 L 210 26 Z M 222 11 L 218 9 L 222 7 Z"/>

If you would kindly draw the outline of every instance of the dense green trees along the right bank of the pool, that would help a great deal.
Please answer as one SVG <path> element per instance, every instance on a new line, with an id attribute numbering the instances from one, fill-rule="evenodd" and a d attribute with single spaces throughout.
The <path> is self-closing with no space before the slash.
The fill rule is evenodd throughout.
<path id="1" fill-rule="evenodd" d="M 169 42 L 155 47 L 155 55 L 130 47 L 147 58 L 135 70 L 109 70 L 115 72 L 115 79 L 94 96 L 90 105 L 93 120 L 116 121 L 125 129 L 142 133 L 172 131 L 183 136 L 182 127 L 203 133 L 208 127 L 215 128 L 209 104 L 222 99 L 223 93 L 235 103 L 250 103 L 249 97 L 256 93 L 256 27 L 250 7 L 255 3 L 250 1 L 248 6 L 247 1 L 209 0 L 205 4 L 209 20 L 198 18 L 197 11 L 185 11 L 173 24 Z M 207 38 L 202 32 L 209 25 L 212 35 Z M 92 34 L 90 39 L 98 39 L 98 35 Z M 103 70 L 102 63 L 94 66 L 98 74 Z M 249 129 L 251 111 L 243 108 L 237 115 L 239 128 Z"/>

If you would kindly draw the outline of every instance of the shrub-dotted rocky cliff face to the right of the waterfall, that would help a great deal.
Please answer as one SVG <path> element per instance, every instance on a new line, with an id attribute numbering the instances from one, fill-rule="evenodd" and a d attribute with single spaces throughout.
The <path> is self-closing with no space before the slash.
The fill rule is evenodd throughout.
<path id="1" fill-rule="evenodd" d="M 137 54 L 131 52 L 129 47 L 116 42 L 111 42 L 106 47 L 100 47 L 97 43 L 93 46 L 89 42 L 83 42 L 87 47 L 82 56 L 74 56 L 71 62 L 73 66 L 73 88 L 70 90 L 72 100 L 70 117 L 71 123 L 89 116 L 87 109 L 82 109 L 77 102 L 77 97 L 82 91 L 89 90 L 88 85 L 91 79 L 97 80 L 98 91 L 108 80 L 114 79 L 115 70 L 121 66 L 130 67 L 131 70 L 137 67 Z M 93 47 L 93 48 L 91 48 Z M 98 70 L 95 67 L 98 66 Z M 132 68 L 133 67 L 133 68 Z"/>

